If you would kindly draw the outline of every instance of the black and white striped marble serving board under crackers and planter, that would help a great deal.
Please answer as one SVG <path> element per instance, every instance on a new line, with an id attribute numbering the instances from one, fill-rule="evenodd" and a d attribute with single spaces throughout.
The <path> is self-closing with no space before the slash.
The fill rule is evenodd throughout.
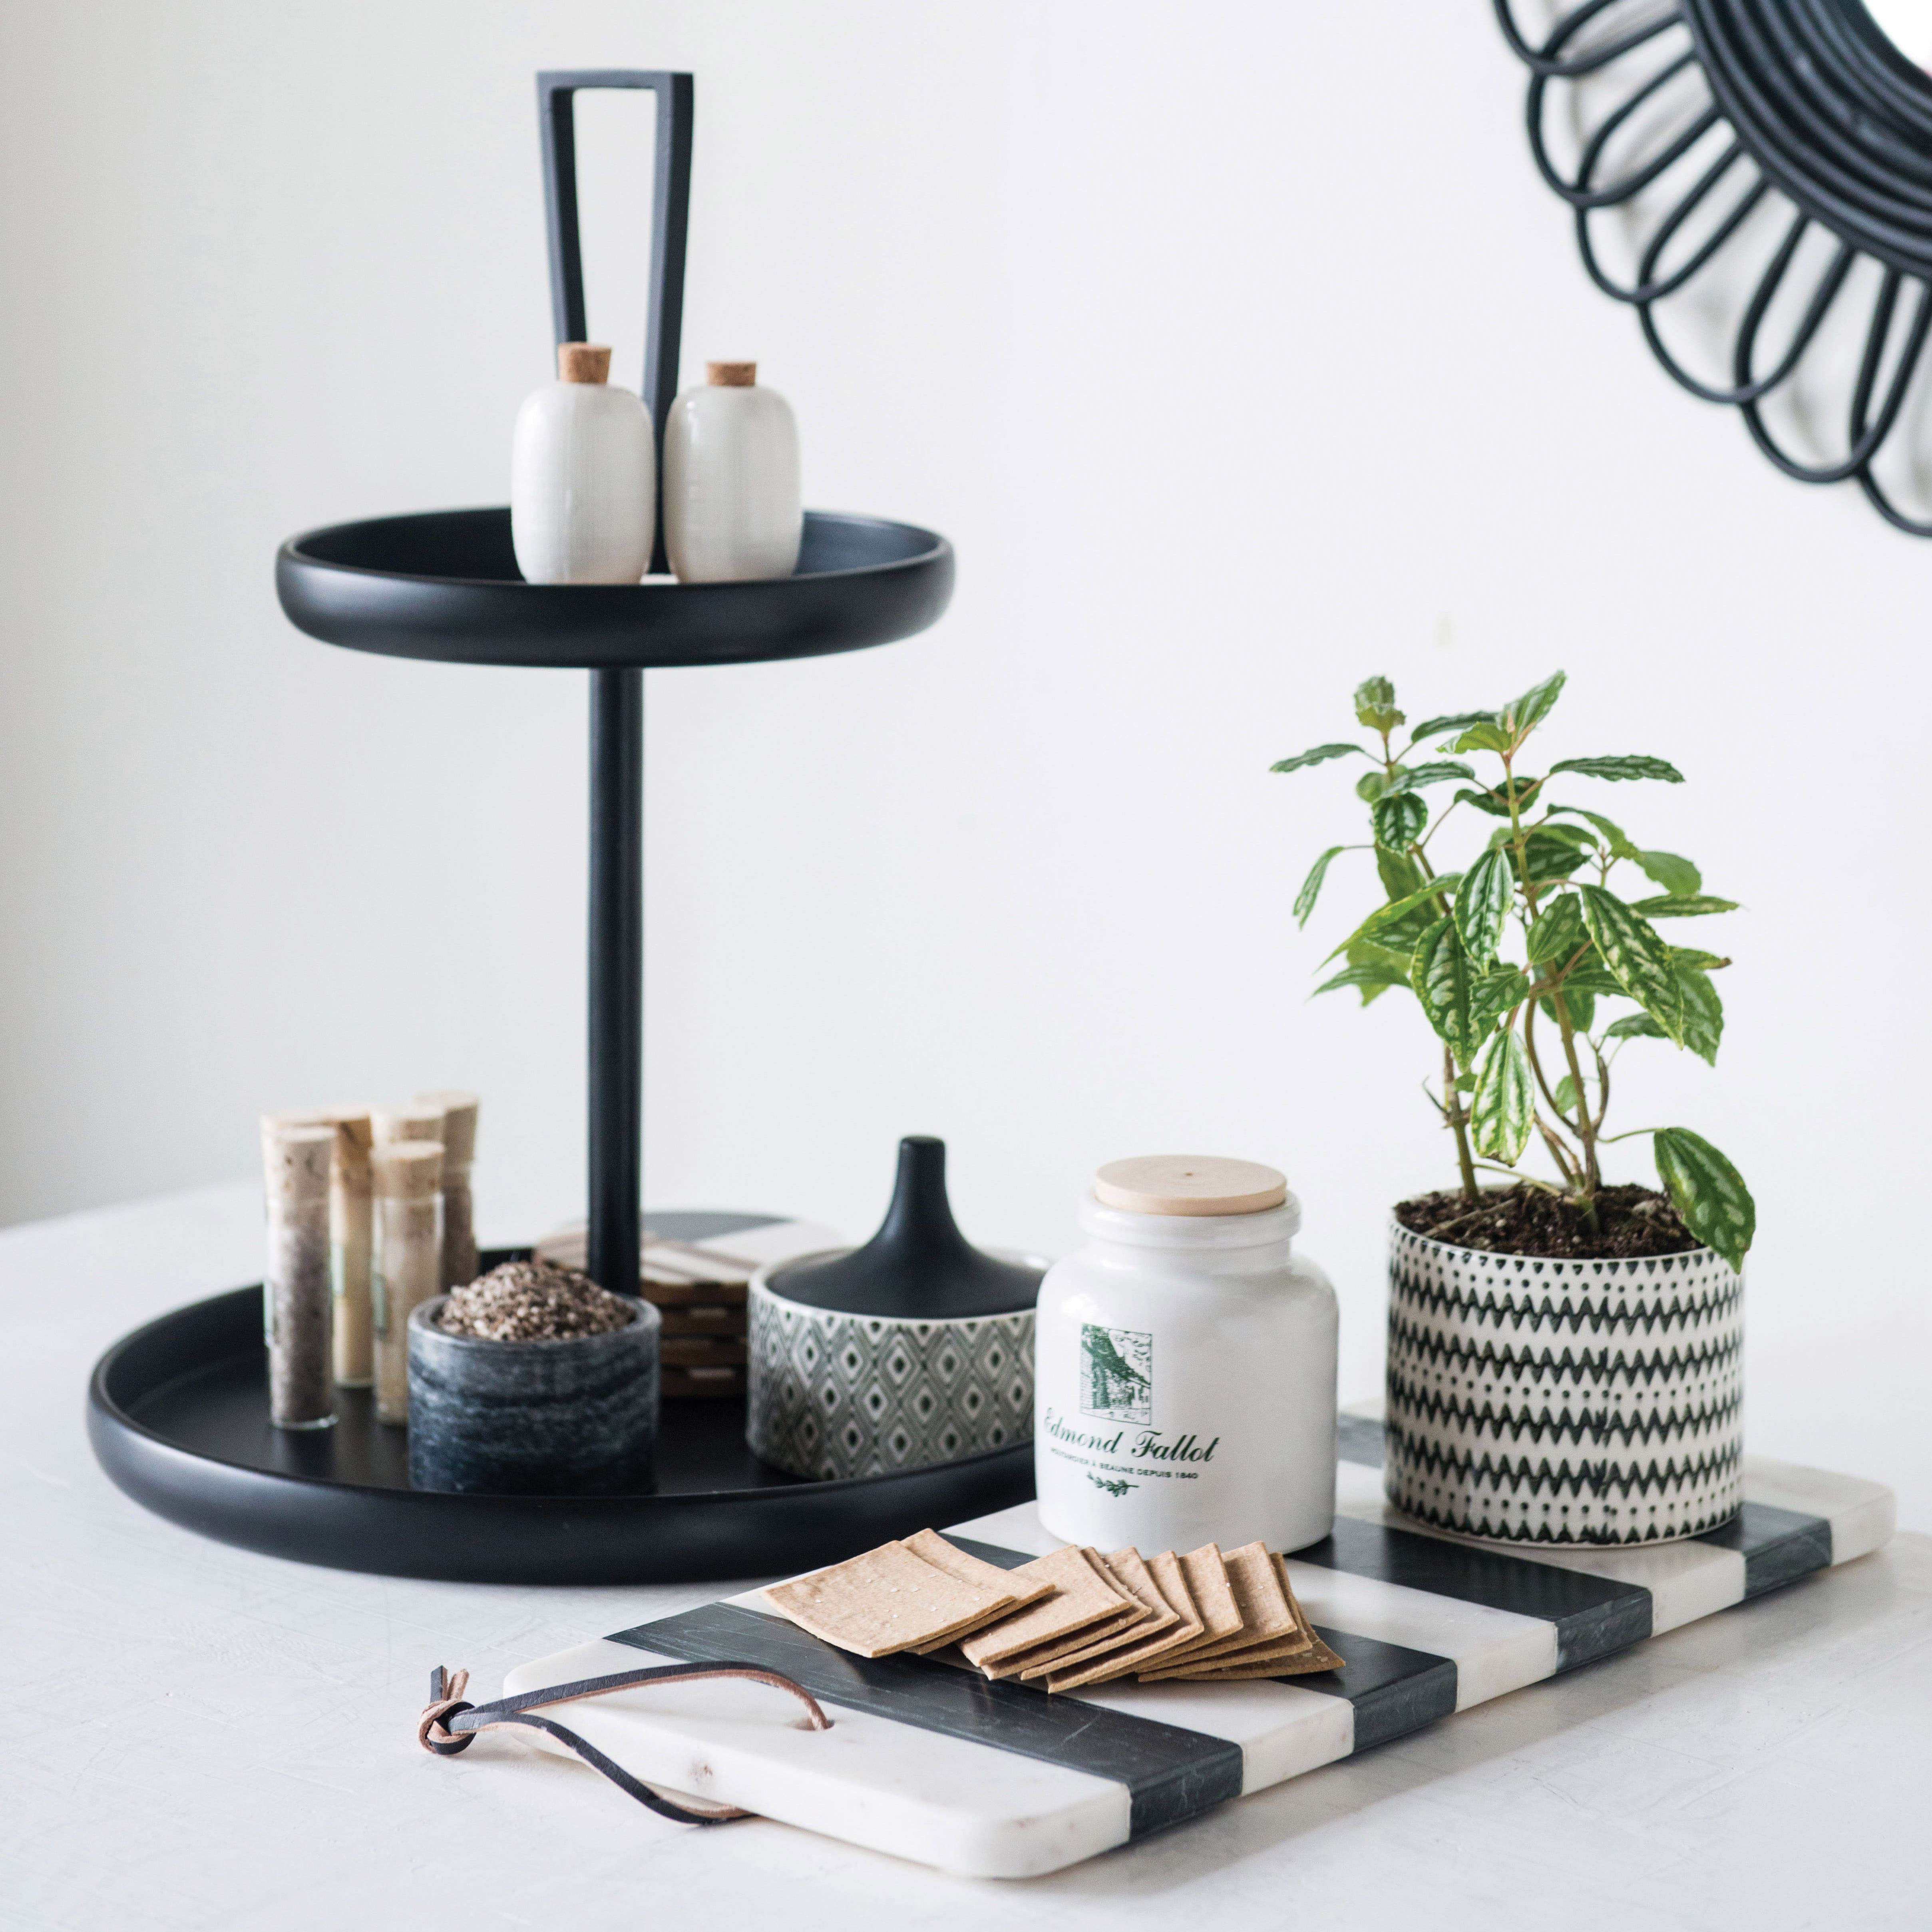
<path id="1" fill-rule="evenodd" d="M 1391 1511 L 1374 1418 L 1343 1418 L 1341 1457 L 1333 1534 L 1289 1559 L 1339 1671 L 1047 1696 L 931 1658 L 848 1656 L 753 1590 L 537 1658 L 504 1694 L 659 1660 L 761 1663 L 829 1706 L 833 1729 L 798 1729 L 784 1692 L 717 1681 L 551 1716 L 667 1791 L 970 1878 L 1034 1878 L 1849 1563 L 1893 1530 L 1880 1484 L 1747 1457 L 1745 1509 L 1710 1536 L 1519 1551 Z M 1032 1503 L 947 1534 L 1007 1567 L 1059 1546 Z"/>

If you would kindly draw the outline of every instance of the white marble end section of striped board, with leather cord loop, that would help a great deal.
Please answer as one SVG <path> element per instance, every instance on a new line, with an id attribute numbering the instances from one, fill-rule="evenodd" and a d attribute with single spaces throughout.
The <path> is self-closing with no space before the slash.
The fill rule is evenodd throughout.
<path id="1" fill-rule="evenodd" d="M 578 1644 L 518 1665 L 504 1694 L 653 1662 L 632 1644 Z M 547 1712 L 645 1783 L 962 1876 L 1032 1878 L 1128 1839 L 1130 1795 L 1109 1777 L 842 1706 L 829 1731 L 800 1731 L 794 1714 L 782 1690 L 717 1679 Z"/>

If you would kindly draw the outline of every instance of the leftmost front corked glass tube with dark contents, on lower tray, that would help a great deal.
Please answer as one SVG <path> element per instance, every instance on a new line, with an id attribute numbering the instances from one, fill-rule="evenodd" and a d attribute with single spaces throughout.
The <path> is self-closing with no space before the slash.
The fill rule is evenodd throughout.
<path id="1" fill-rule="evenodd" d="M 328 1281 L 332 1126 L 286 1126 L 263 1117 L 269 1269 L 261 1285 L 269 1345 L 269 1416 L 280 1430 L 327 1430 L 334 1420 Z"/>

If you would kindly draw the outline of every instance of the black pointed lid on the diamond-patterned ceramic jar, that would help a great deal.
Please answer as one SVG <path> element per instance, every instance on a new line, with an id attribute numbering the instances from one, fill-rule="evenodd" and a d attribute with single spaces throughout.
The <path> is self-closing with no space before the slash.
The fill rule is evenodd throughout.
<path id="1" fill-rule="evenodd" d="M 964 1321 L 1010 1316 L 1039 1298 L 1045 1269 L 981 1254 L 958 1231 L 947 1202 L 947 1144 L 908 1134 L 879 1233 L 864 1248 L 777 1269 L 769 1287 L 788 1302 L 895 1321 Z"/>

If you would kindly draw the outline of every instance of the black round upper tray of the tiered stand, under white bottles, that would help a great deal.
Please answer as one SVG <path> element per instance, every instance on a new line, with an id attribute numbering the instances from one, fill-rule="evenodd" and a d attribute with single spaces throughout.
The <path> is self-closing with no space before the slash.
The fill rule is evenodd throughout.
<path id="1" fill-rule="evenodd" d="M 952 599 L 952 545 L 914 524 L 806 512 L 798 568 L 755 583 L 526 583 L 508 510 L 332 524 L 274 558 L 288 620 L 384 657 L 458 665 L 748 665 L 893 643 Z"/>

